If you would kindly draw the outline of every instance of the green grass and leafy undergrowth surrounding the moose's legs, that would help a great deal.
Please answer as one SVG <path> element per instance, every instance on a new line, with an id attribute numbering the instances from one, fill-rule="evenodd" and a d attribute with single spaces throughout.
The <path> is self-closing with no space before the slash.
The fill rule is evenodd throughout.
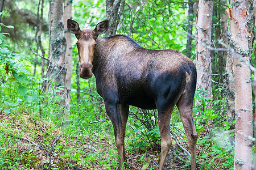
<path id="1" fill-rule="evenodd" d="M 6 77 L 4 72 L 1 75 Z M 48 92 L 43 92 L 40 90 L 40 79 L 32 76 L 27 78 L 28 82 L 25 83 L 15 79 L 1 83 L 0 169 L 48 169 L 51 147 L 59 135 L 61 137 L 53 147 L 51 169 L 72 169 L 74 166 L 84 169 L 118 169 L 113 127 L 105 113 L 104 103 L 98 100 L 100 96 L 96 92 L 94 80 L 90 82 L 90 89 L 84 88 L 84 91 L 90 90 L 93 97 L 84 93 L 81 94 L 80 102 L 77 102 L 76 92 L 72 91 L 70 116 L 63 127 L 63 109 L 58 104 L 59 97 L 55 95 L 57 89 L 49 88 Z M 20 86 L 27 88 L 26 94 L 18 92 Z M 227 150 L 232 151 L 233 146 L 228 145 L 228 140 L 216 142 L 218 138 L 224 138 L 223 131 L 232 125 L 223 122 L 225 103 L 222 100 L 214 101 L 209 107 L 205 101 L 212 99 L 204 98 L 200 91 L 196 97 L 200 99 L 194 107 L 195 112 L 200 112 L 195 116 L 199 134 L 198 169 L 232 169 L 233 152 Z M 205 111 L 202 112 L 200 107 L 204 107 Z M 104 121 L 95 122 L 98 120 Z M 154 111 L 130 108 L 125 139 L 129 169 L 157 169 L 160 158 L 157 120 Z M 189 150 L 177 109 L 172 113 L 171 128 L 179 143 Z M 44 149 L 40 150 L 30 141 Z M 189 169 L 189 160 L 189 156 L 176 145 L 173 138 L 166 167 Z"/>

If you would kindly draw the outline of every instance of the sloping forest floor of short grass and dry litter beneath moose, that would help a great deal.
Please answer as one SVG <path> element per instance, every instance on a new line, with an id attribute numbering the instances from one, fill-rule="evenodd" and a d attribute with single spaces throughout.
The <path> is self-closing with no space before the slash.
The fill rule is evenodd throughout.
<path id="1" fill-rule="evenodd" d="M 114 138 L 109 134 L 67 134 L 51 120 L 40 120 L 27 111 L 0 111 L 0 143 L 0 151 L 5 149 L 5 154 L 0 152 L 0 169 L 118 169 Z M 184 161 L 188 155 L 177 150 L 172 142 L 165 169 L 189 169 Z M 128 169 L 157 169 L 159 156 L 160 151 L 142 153 L 134 148 L 127 152 Z"/>

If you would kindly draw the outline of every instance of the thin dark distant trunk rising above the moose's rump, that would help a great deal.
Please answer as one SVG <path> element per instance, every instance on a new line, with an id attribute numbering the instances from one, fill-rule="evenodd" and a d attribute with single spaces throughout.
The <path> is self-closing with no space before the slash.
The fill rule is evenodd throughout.
<path id="1" fill-rule="evenodd" d="M 193 31 L 193 5 L 194 2 L 192 2 L 192 0 L 188 1 L 188 33 L 189 35 L 192 35 L 192 31 Z M 192 42 L 192 38 L 191 36 L 187 36 L 187 45 L 186 45 L 186 56 L 188 58 L 191 58 L 191 42 Z"/>

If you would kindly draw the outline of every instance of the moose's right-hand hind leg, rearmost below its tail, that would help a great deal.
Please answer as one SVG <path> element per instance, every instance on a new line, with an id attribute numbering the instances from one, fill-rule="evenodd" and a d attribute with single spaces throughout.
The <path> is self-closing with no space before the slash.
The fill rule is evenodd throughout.
<path id="1" fill-rule="evenodd" d="M 185 97 L 183 94 L 177 103 L 177 108 L 180 112 L 181 121 L 185 129 L 185 133 L 188 139 L 189 150 L 191 154 L 191 169 L 196 169 L 196 141 L 197 133 L 195 125 L 193 123 L 193 100 L 189 101 L 191 97 Z"/>

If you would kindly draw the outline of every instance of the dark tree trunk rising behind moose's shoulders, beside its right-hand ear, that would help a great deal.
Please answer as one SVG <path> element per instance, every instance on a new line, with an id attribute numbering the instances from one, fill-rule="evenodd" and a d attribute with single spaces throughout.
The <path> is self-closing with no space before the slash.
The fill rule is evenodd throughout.
<path id="1" fill-rule="evenodd" d="M 119 8 L 123 7 L 125 0 L 106 0 L 106 19 L 109 20 L 107 36 L 114 36 L 119 24 Z"/>

